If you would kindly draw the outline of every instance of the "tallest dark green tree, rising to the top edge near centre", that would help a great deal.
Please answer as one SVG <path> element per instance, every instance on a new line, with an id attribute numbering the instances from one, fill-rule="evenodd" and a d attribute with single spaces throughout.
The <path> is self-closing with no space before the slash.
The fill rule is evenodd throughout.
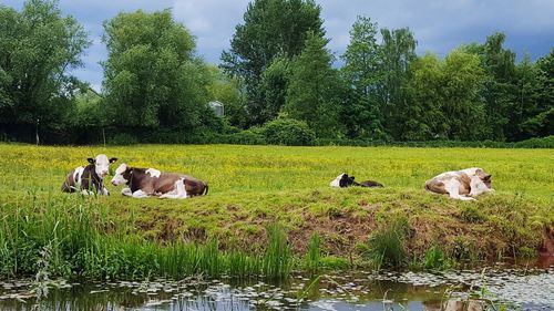
<path id="1" fill-rule="evenodd" d="M 244 81 L 250 125 L 264 124 L 275 114 L 274 107 L 267 107 L 264 91 L 268 90 L 260 87 L 264 72 L 277 56 L 290 60 L 298 55 L 308 31 L 324 35 L 320 11 L 312 0 L 254 0 L 248 4 L 230 50 L 222 53 L 220 66 Z"/>

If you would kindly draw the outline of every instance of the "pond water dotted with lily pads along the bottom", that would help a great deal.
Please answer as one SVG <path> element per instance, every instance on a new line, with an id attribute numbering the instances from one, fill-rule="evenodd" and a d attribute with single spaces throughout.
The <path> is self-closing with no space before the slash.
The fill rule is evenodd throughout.
<path id="1" fill-rule="evenodd" d="M 1 310 L 440 310 L 482 292 L 520 310 L 554 310 L 554 268 L 448 272 L 355 271 L 285 283 L 230 279 L 80 283 L 52 281 L 45 298 L 32 281 L 0 281 Z M 38 291 L 39 290 L 39 291 Z"/>

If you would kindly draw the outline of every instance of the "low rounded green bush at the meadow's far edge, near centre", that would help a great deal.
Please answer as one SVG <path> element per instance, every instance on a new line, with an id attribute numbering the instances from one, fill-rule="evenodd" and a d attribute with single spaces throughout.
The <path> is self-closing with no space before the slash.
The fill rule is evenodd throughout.
<path id="1" fill-rule="evenodd" d="M 311 146 L 316 142 L 316 133 L 306 122 L 286 117 L 266 123 L 264 136 L 270 145 Z"/>

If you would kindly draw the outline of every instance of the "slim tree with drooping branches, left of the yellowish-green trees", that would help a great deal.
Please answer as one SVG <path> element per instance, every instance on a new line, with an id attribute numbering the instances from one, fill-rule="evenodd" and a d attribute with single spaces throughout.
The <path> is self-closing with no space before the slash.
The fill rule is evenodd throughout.
<path id="1" fill-rule="evenodd" d="M 402 136 L 403 123 L 410 116 L 406 106 L 408 97 L 403 87 L 411 79 L 411 63 L 417 59 L 417 41 L 408 28 L 381 29 L 381 71 L 383 83 L 378 89 L 386 128 L 396 139 Z"/>

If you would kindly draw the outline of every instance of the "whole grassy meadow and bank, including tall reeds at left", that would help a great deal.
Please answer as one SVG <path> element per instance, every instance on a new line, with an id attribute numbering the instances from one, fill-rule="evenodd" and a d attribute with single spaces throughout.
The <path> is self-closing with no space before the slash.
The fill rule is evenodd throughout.
<path id="1" fill-rule="evenodd" d="M 193 175 L 209 184 L 209 194 L 133 199 L 111 185 L 109 197 L 61 194 L 66 174 L 99 153 L 119 158 L 113 169 L 127 163 Z M 327 258 L 358 263 L 372 247 L 368 237 L 399 217 L 410 228 L 401 262 L 424 258 L 434 245 L 445 260 L 497 260 L 534 256 L 542 231 L 554 226 L 553 149 L 0 144 L 0 154 L 3 276 L 37 271 L 39 251 L 49 247 L 49 269 L 59 274 L 240 278 L 265 271 L 279 278 L 293 257 L 315 262 L 319 256 L 326 267 L 336 266 Z M 496 193 L 466 203 L 423 190 L 441 172 L 473 166 L 493 175 Z M 330 188 L 342 172 L 386 188 Z M 286 232 L 276 245 L 271 225 Z M 275 266 L 264 266 L 268 261 Z"/>

